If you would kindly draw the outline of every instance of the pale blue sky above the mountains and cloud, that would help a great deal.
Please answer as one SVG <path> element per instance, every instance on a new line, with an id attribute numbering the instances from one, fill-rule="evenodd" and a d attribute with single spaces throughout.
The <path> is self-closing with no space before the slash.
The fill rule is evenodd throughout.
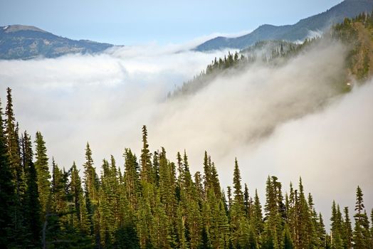
<path id="1" fill-rule="evenodd" d="M 341 0 L 0 0 L 0 26 L 38 26 L 59 36 L 135 45 L 184 43 L 261 24 L 292 24 Z"/>

